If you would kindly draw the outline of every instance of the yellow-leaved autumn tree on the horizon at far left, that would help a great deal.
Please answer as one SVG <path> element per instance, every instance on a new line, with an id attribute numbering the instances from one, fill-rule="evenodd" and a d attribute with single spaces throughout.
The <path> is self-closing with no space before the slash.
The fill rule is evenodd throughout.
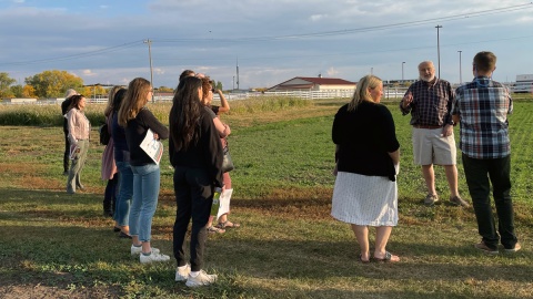
<path id="1" fill-rule="evenodd" d="M 44 71 L 29 76 L 24 82 L 33 86 L 39 97 L 61 97 L 68 89 L 81 89 L 83 80 L 67 71 Z"/>

